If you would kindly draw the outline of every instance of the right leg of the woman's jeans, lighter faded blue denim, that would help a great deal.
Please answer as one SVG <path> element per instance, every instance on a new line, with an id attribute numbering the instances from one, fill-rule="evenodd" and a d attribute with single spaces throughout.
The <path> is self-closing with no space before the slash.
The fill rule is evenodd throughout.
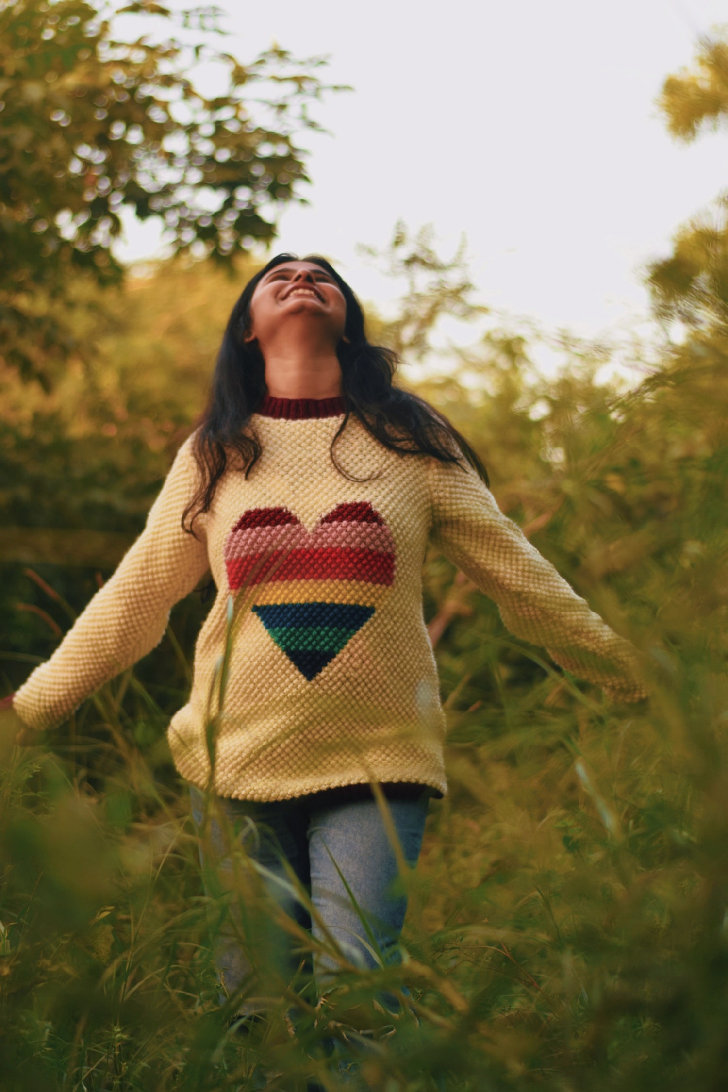
<path id="1" fill-rule="evenodd" d="M 417 864 L 422 845 L 429 796 L 425 791 L 416 800 L 387 802 L 404 858 L 410 867 Z M 312 807 L 308 838 L 311 902 L 325 925 L 323 928 L 320 922 L 313 922 L 314 938 L 330 943 L 327 931 L 343 954 L 359 966 L 373 968 L 379 963 L 372 948 L 379 949 L 384 964 L 399 962 L 398 940 L 407 898 L 393 891 L 398 876 L 397 860 L 377 802 Z M 336 966 L 332 957 L 321 953 L 314 957 L 319 993 L 326 992 L 332 982 L 330 971 Z M 387 995 L 386 1002 L 391 1000 L 394 1000 L 392 995 Z"/>

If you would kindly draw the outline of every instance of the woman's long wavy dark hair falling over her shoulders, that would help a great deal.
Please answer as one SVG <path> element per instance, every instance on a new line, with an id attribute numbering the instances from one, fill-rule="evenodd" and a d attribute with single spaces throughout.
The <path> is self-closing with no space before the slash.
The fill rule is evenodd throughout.
<path id="1" fill-rule="evenodd" d="M 299 260 L 296 254 L 276 254 L 250 278 L 232 308 L 217 354 L 210 400 L 193 441 L 201 485 L 182 515 L 182 526 L 191 534 L 195 519 L 208 511 L 230 456 L 240 456 L 246 477 L 260 458 L 261 443 L 250 426 L 250 416 L 266 394 L 265 361 L 258 345 L 243 341 L 243 335 L 250 325 L 250 305 L 259 282 L 276 265 Z M 392 349 L 367 341 L 361 305 L 346 281 L 319 254 L 308 254 L 302 261 L 325 270 L 346 300 L 344 337 L 336 347 L 345 415 L 331 444 L 331 458 L 339 473 L 358 480 L 339 466 L 335 452 L 336 441 L 354 415 L 390 451 L 430 455 L 461 466 L 465 460 L 489 485 L 482 462 L 446 417 L 423 399 L 393 385 L 399 358 Z"/>

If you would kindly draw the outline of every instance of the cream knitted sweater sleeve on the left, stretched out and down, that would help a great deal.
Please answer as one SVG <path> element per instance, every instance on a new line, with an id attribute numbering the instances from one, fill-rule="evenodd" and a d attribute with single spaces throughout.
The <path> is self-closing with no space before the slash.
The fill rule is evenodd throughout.
<path id="1" fill-rule="evenodd" d="M 171 607 L 204 575 L 207 546 L 182 530 L 196 464 L 191 438 L 182 444 L 150 510 L 144 531 L 111 579 L 94 595 L 50 660 L 31 674 L 13 709 L 33 728 L 64 721 L 104 682 L 159 643 Z M 203 521 L 200 521 L 203 522 Z"/>

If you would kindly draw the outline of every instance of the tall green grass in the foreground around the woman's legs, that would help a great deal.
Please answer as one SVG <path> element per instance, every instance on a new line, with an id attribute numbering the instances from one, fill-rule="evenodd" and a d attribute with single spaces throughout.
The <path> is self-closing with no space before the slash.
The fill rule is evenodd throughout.
<path id="1" fill-rule="evenodd" d="M 499 638 L 476 636 L 492 662 Z M 726 686 L 694 660 L 669 668 L 636 710 L 545 674 L 504 690 L 488 733 L 480 710 L 451 713 L 451 795 L 409 881 L 405 962 L 342 960 L 335 1005 L 301 995 L 295 1034 L 301 986 L 273 969 L 267 1022 L 226 1030 L 211 933 L 240 889 L 203 893 L 187 796 L 123 712 L 129 687 L 154 710 L 133 675 L 96 697 L 93 732 L 79 719 L 52 749 L 7 740 L 3 1087 L 295 1089 L 315 1072 L 336 1089 L 324 1038 L 356 1054 L 356 1030 L 382 1023 L 375 993 L 402 985 L 411 1004 L 365 1053 L 362 1087 L 725 1087 Z"/>

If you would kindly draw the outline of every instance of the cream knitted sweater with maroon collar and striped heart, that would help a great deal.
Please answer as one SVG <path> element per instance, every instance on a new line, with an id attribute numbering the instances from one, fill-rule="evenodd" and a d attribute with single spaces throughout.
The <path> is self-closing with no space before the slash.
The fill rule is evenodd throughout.
<path id="1" fill-rule="evenodd" d="M 618 699 L 644 697 L 618 637 L 498 508 L 477 474 L 399 455 L 343 402 L 266 399 L 262 453 L 232 463 L 210 511 L 182 444 L 145 530 L 53 655 L 14 697 L 36 728 L 68 717 L 150 652 L 169 610 L 212 570 L 189 702 L 168 735 L 177 769 L 222 796 L 273 800 L 370 780 L 446 792 L 444 717 L 422 616 L 428 539 L 498 604 L 517 637 Z M 211 776 L 212 770 L 212 776 Z"/>

